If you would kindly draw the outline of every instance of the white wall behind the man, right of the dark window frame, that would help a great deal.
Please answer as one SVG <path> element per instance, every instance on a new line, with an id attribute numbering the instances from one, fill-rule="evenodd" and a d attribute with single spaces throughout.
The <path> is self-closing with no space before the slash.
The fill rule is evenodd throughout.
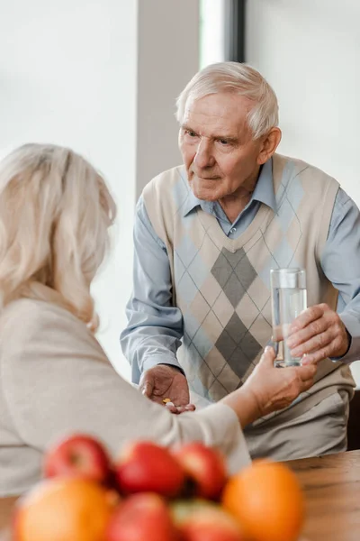
<path id="1" fill-rule="evenodd" d="M 247 62 L 279 98 L 279 150 L 329 172 L 357 205 L 359 20 L 358 0 L 247 2 Z"/>

